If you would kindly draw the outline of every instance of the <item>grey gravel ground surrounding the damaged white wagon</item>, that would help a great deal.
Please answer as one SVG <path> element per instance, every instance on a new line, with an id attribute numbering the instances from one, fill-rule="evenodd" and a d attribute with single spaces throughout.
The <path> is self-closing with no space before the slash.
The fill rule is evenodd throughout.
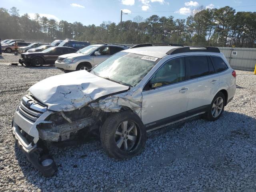
<path id="1" fill-rule="evenodd" d="M 236 95 L 219 120 L 151 132 L 128 160 L 109 158 L 98 140 L 52 147 L 58 173 L 44 178 L 14 144 L 11 121 L 31 85 L 62 72 L 0 64 L 0 191 L 255 192 L 256 75 L 236 73 Z"/>

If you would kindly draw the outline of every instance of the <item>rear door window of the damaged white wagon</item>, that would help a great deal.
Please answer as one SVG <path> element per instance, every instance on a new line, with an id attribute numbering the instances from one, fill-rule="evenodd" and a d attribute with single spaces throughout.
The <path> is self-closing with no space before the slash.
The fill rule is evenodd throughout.
<path id="1" fill-rule="evenodd" d="M 186 66 L 190 73 L 190 79 L 206 76 L 209 74 L 208 60 L 206 56 L 185 57 Z"/>

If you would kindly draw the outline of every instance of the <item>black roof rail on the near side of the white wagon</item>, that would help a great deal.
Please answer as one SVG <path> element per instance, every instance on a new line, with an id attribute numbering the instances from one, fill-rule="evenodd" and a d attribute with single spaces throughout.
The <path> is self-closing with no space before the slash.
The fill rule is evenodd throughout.
<path id="1" fill-rule="evenodd" d="M 195 49 L 190 49 L 190 48 L 195 48 Z M 167 55 L 173 55 L 173 54 L 186 53 L 186 52 L 214 52 L 214 53 L 220 53 L 220 50 L 217 47 L 188 46 L 188 47 L 178 47 L 178 48 L 171 49 L 166 54 Z"/>

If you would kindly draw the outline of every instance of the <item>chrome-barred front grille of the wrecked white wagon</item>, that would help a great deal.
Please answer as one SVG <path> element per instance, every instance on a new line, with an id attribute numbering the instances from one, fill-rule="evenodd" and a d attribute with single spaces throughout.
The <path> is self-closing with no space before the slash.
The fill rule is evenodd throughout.
<path id="1" fill-rule="evenodd" d="M 24 96 L 18 107 L 18 112 L 32 122 L 35 122 L 46 110 L 47 106 L 31 95 Z"/>

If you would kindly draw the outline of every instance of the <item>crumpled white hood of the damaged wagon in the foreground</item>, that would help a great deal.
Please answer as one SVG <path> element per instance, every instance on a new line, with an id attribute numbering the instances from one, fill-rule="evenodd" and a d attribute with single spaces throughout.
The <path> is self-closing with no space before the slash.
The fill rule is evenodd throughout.
<path id="1" fill-rule="evenodd" d="M 28 90 L 49 110 L 70 111 L 102 96 L 128 89 L 128 86 L 81 70 L 46 78 Z"/>

